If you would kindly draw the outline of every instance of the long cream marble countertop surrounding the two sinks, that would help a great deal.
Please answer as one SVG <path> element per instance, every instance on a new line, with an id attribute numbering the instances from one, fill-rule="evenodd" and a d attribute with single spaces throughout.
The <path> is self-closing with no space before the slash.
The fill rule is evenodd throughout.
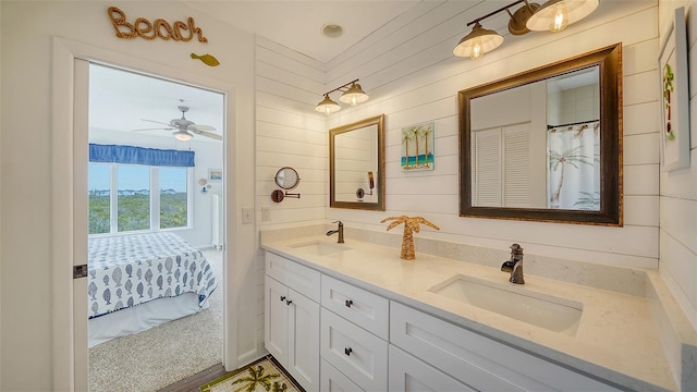
<path id="1" fill-rule="evenodd" d="M 509 273 L 480 264 L 419 254 L 400 258 L 400 249 L 346 240 L 347 250 L 319 256 L 292 245 L 335 243 L 325 235 L 262 242 L 261 247 L 328 275 L 398 301 L 441 319 L 524 348 L 583 372 L 641 391 L 675 391 L 670 365 L 652 321 L 649 299 L 580 284 L 526 274 L 525 284 L 509 283 Z M 430 292 L 464 274 L 583 304 L 575 336 L 513 320 Z"/>

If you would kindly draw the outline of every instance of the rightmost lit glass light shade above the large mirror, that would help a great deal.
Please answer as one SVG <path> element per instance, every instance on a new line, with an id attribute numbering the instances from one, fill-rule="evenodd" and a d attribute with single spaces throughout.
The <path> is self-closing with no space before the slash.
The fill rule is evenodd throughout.
<path id="1" fill-rule="evenodd" d="M 594 12 L 599 0 L 549 0 L 542 4 L 525 26 L 534 32 L 561 32 Z"/>

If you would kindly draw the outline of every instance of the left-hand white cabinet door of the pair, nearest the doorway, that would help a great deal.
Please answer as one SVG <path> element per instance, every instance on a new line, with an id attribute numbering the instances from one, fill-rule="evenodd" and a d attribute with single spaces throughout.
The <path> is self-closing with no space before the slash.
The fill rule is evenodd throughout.
<path id="1" fill-rule="evenodd" d="M 288 287 L 274 279 L 265 278 L 264 346 L 284 367 L 288 366 Z"/>

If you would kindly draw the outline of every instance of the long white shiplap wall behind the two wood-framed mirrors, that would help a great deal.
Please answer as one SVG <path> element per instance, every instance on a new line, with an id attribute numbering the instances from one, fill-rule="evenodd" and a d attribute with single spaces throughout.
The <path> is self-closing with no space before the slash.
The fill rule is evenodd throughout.
<path id="1" fill-rule="evenodd" d="M 501 48 L 479 61 L 454 58 L 463 26 L 490 4 L 424 2 L 330 62 L 329 85 L 359 77 L 371 99 L 332 115 L 328 127 L 387 115 L 388 210 L 328 208 L 327 219 L 383 231 L 379 221 L 387 216 L 423 216 L 441 228 L 421 231 L 423 237 L 497 248 L 516 242 L 534 254 L 658 268 L 657 1 L 603 1 L 591 17 L 559 35 L 506 35 Z M 487 28 L 505 32 L 506 17 L 487 20 Z M 624 59 L 624 226 L 458 217 L 457 91 L 615 42 L 623 44 Z M 401 172 L 401 127 L 430 121 L 436 170 Z"/>

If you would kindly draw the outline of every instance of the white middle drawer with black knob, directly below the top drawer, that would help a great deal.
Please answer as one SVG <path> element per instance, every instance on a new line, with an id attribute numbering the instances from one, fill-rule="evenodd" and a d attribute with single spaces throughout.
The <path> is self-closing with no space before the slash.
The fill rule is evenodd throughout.
<path id="1" fill-rule="evenodd" d="M 388 343 L 321 309 L 321 356 L 366 391 L 388 388 Z"/>

